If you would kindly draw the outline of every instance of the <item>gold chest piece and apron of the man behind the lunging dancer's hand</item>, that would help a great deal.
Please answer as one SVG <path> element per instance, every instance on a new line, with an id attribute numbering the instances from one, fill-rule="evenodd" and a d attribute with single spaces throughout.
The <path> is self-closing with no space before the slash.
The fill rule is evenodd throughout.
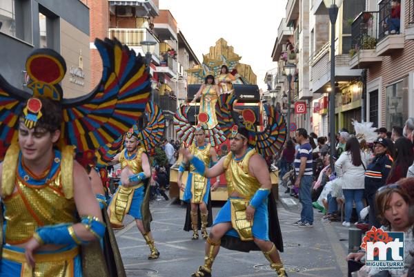
<path id="1" fill-rule="evenodd" d="M 199 149 L 195 144 L 191 146 L 191 154 L 195 155 L 195 157 L 198 157 L 199 160 L 202 160 L 206 166 L 210 164 L 210 149 L 211 145 L 206 144 L 204 149 Z M 191 194 L 193 195 L 193 198 L 191 200 L 192 203 L 201 203 L 201 201 L 204 198 L 204 195 L 206 194 L 207 189 L 207 178 L 205 178 L 203 175 L 200 175 L 198 173 L 195 173 L 195 167 L 193 164 L 190 165 L 190 171 L 193 173 L 193 177 L 191 180 Z"/>

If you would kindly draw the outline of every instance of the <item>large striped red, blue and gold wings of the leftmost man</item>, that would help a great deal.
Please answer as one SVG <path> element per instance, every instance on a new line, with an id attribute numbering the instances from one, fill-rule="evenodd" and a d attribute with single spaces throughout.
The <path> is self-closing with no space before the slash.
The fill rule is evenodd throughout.
<path id="1" fill-rule="evenodd" d="M 95 151 L 117 140 L 137 122 L 150 98 L 150 73 L 141 55 L 122 46 L 117 39 L 95 39 L 95 45 L 103 62 L 98 86 L 87 95 L 61 100 L 60 143 L 76 146 L 77 152 Z M 32 94 L 10 86 L 0 75 L 3 150 L 17 140 L 18 117 L 30 97 Z M 3 152 L 0 151 L 0 160 Z"/>

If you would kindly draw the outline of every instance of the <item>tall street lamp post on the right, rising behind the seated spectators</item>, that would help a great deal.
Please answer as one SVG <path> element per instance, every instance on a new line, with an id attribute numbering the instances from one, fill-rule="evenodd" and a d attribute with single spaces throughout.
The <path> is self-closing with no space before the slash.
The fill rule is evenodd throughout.
<path id="1" fill-rule="evenodd" d="M 331 169 L 334 170 L 333 155 L 335 155 L 335 22 L 339 6 L 344 0 L 324 0 L 331 21 L 331 95 L 329 95 L 329 130 L 331 131 Z"/>

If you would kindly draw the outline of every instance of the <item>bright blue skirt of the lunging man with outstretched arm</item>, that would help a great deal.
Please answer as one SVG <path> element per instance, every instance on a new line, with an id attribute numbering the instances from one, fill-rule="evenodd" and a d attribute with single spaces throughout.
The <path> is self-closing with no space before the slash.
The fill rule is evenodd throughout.
<path id="1" fill-rule="evenodd" d="M 259 205 L 256 208 L 255 216 L 253 217 L 252 233 L 253 238 L 259 238 L 260 240 L 269 240 L 269 222 L 268 222 L 268 200 Z M 223 222 L 231 223 L 231 207 L 230 199 L 227 200 L 226 204 L 221 207 L 219 213 L 213 222 L 213 226 Z M 230 229 L 226 233 L 227 236 L 234 236 L 239 238 L 239 233 L 235 229 Z"/>

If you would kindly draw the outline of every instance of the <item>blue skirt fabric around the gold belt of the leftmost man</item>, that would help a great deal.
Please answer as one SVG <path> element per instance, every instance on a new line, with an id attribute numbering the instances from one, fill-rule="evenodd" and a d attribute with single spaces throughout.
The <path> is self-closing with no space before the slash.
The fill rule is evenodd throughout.
<path id="1" fill-rule="evenodd" d="M 56 251 L 37 251 L 36 254 L 57 254 L 61 253 L 62 251 L 67 251 L 72 249 L 72 246 L 64 247 L 62 249 Z M 11 245 L 3 245 L 3 249 L 10 249 L 12 251 L 17 251 L 20 253 L 24 253 L 25 249 L 14 247 Z M 73 260 L 73 276 L 74 277 L 82 277 L 82 264 L 81 264 L 81 256 L 77 255 Z M 1 277 L 20 277 L 21 276 L 21 268 L 22 264 L 20 262 L 15 262 L 12 260 L 6 260 L 5 258 L 0 259 L 0 276 Z M 44 276 L 44 277 L 54 277 L 54 276 Z"/>

